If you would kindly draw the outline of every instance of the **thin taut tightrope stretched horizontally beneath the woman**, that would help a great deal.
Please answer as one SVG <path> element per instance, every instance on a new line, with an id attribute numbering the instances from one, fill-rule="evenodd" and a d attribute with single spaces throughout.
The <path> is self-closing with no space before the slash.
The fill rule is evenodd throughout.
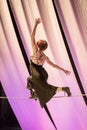
<path id="1" fill-rule="evenodd" d="M 83 96 L 87 96 L 87 94 L 78 94 L 78 95 L 72 95 L 69 96 L 70 98 L 73 97 L 83 97 Z M 53 98 L 67 98 L 68 96 L 54 96 Z M 9 97 L 5 97 L 5 96 L 0 96 L 0 99 L 28 99 L 29 97 L 13 97 L 13 96 L 9 96 Z M 34 98 L 33 98 L 34 99 Z"/>

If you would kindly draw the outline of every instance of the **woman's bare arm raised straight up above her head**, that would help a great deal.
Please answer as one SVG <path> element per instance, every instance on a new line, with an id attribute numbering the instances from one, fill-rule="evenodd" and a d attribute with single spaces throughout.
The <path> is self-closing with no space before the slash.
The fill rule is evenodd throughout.
<path id="1" fill-rule="evenodd" d="M 35 19 L 35 24 L 34 24 L 34 27 L 33 27 L 32 33 L 31 33 L 31 44 L 32 44 L 33 52 L 35 52 L 37 50 L 37 46 L 36 46 L 36 43 L 35 43 L 35 33 L 36 33 L 37 25 L 39 23 L 41 23 L 41 19 L 36 18 Z"/>

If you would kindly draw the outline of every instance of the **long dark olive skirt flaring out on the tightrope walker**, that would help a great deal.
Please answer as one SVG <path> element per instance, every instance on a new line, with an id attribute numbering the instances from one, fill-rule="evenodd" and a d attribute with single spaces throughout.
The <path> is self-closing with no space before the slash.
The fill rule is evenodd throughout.
<path id="1" fill-rule="evenodd" d="M 56 93 L 57 87 L 47 83 L 48 73 L 43 66 L 36 65 L 31 61 L 30 72 L 32 75 L 33 88 L 35 89 L 41 107 L 44 107 Z"/>

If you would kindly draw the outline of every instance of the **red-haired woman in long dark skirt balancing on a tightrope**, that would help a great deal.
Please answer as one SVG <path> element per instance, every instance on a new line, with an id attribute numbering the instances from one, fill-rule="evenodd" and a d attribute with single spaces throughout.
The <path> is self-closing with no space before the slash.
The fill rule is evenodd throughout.
<path id="1" fill-rule="evenodd" d="M 57 87 L 47 83 L 48 74 L 43 68 L 43 64 L 47 62 L 49 65 L 56 69 L 62 70 L 65 74 L 70 74 L 70 71 L 64 70 L 58 65 L 54 64 L 45 54 L 47 49 L 47 42 L 45 40 L 35 41 L 35 33 L 37 25 L 41 23 L 41 19 L 35 19 L 35 25 L 31 33 L 31 44 L 33 55 L 31 56 L 30 71 L 31 77 L 28 78 L 27 87 L 32 90 L 32 98 L 38 98 L 41 106 L 43 107 L 56 92 L 64 91 L 68 96 L 71 96 L 69 87 Z"/>

